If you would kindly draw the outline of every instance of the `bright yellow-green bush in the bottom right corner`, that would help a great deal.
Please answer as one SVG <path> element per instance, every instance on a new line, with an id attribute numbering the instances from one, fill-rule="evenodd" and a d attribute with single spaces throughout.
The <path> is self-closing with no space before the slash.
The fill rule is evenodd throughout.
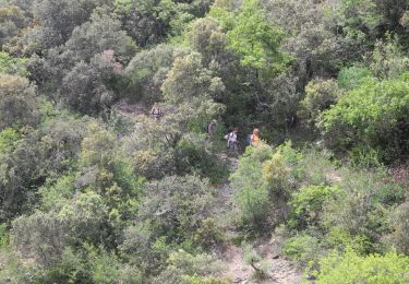
<path id="1" fill-rule="evenodd" d="M 320 260 L 316 283 L 408 283 L 409 258 L 389 252 L 361 257 L 351 249 Z"/>

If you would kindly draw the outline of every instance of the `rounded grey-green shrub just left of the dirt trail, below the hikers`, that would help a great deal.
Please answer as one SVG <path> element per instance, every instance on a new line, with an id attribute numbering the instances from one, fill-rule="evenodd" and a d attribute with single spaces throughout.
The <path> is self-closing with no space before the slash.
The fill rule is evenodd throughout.
<path id="1" fill-rule="evenodd" d="M 139 217 L 152 233 L 168 241 L 182 242 L 192 238 L 212 215 L 214 189 L 196 176 L 170 176 L 147 184 Z"/>

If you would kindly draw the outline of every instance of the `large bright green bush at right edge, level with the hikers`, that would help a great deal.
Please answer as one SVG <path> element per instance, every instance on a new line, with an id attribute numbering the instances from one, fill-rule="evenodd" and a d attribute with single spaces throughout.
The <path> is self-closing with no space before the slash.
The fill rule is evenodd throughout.
<path id="1" fill-rule="evenodd" d="M 327 142 L 338 150 L 364 145 L 394 161 L 409 151 L 407 117 L 409 81 L 368 79 L 337 105 L 322 114 L 318 127 Z"/>

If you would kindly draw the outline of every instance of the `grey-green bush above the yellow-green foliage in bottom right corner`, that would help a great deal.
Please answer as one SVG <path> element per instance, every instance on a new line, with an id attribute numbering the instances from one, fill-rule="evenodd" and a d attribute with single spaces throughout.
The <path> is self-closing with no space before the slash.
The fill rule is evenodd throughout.
<path id="1" fill-rule="evenodd" d="M 345 170 L 339 190 L 324 206 L 323 226 L 347 230 L 354 241 L 359 240 L 364 253 L 384 251 L 382 238 L 389 230 L 388 210 L 394 196 L 402 192 L 386 177 L 383 171 Z"/>

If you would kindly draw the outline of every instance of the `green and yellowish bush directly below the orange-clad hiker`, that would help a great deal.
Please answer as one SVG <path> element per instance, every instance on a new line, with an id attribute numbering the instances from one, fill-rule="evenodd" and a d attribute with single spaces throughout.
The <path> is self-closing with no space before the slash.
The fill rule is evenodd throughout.
<path id="1" fill-rule="evenodd" d="M 252 233 L 272 229 L 286 218 L 291 192 L 301 175 L 301 154 L 287 143 L 274 152 L 267 145 L 249 147 L 231 176 L 240 224 Z"/>

